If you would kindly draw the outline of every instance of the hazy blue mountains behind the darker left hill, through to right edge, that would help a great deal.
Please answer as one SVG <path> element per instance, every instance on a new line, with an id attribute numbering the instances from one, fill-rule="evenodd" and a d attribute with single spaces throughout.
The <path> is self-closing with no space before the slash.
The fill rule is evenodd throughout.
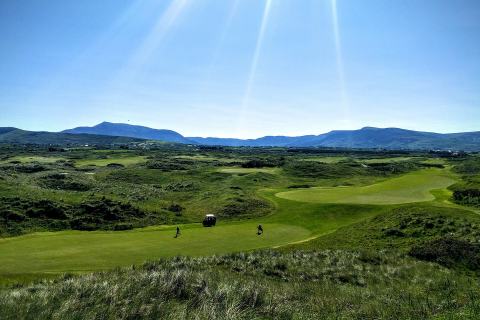
<path id="1" fill-rule="evenodd" d="M 298 137 L 265 136 L 258 139 L 234 139 L 184 137 L 171 130 L 102 122 L 94 127 L 78 127 L 63 131 L 63 133 L 115 135 L 176 143 L 221 146 L 480 150 L 480 132 L 441 134 L 399 128 L 365 127 L 359 130 L 335 130 L 319 135 Z"/>

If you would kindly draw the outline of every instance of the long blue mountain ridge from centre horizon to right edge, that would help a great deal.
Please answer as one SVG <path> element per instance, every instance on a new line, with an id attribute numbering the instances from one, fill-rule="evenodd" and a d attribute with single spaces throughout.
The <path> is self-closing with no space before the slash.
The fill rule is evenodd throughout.
<path id="1" fill-rule="evenodd" d="M 267 136 L 258 139 L 188 138 L 199 144 L 225 146 L 334 147 L 368 149 L 441 149 L 480 151 L 480 132 L 440 134 L 399 128 L 335 130 L 299 137 Z"/>

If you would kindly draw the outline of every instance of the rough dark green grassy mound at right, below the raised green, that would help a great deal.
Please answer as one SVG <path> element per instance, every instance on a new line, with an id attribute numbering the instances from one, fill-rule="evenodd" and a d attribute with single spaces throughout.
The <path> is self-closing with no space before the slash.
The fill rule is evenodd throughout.
<path id="1" fill-rule="evenodd" d="M 431 204 L 403 205 L 339 228 L 303 244 L 302 248 L 388 248 L 407 252 L 419 243 L 445 237 L 478 243 L 479 226 L 480 216 L 464 209 Z"/>

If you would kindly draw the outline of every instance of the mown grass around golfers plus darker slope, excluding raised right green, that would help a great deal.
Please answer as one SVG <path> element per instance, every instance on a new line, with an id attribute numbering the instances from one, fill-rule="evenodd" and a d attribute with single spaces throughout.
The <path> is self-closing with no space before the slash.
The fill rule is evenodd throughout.
<path id="1" fill-rule="evenodd" d="M 298 203 L 274 196 L 274 214 L 213 228 L 184 225 L 174 238 L 174 226 L 133 231 L 41 232 L 0 240 L 0 285 L 29 282 L 65 272 L 107 270 L 177 255 L 208 256 L 280 247 L 334 232 L 382 212 L 383 207 Z M 262 224 L 265 232 L 256 234 Z"/>

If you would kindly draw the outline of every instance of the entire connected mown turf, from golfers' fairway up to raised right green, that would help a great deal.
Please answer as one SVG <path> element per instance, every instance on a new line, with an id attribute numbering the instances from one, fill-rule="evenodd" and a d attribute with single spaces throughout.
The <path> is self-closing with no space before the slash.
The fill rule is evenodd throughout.
<path id="1" fill-rule="evenodd" d="M 180 226 L 178 238 L 174 238 L 175 226 L 129 231 L 36 232 L 4 238 L 0 239 L 0 276 L 30 278 L 107 270 L 179 254 L 206 256 L 285 246 L 380 214 L 388 205 L 435 201 L 432 190 L 445 189 L 454 182 L 448 169 L 423 169 L 366 186 L 295 191 L 262 189 L 260 194 L 275 206 L 268 216 L 220 221 L 213 228 L 185 224 Z M 261 236 L 256 234 L 258 224 L 265 230 Z"/>

